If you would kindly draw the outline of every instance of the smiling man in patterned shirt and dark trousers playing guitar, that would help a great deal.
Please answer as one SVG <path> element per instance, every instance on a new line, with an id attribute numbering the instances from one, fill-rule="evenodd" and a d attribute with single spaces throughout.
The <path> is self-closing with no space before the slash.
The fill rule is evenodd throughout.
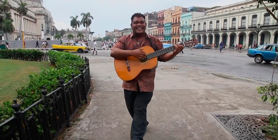
<path id="1" fill-rule="evenodd" d="M 125 59 L 126 57 L 136 57 L 146 59 L 143 46 L 152 46 L 154 50 L 163 49 L 162 43 L 158 38 L 145 33 L 145 16 L 141 13 L 135 13 L 131 17 L 131 28 L 133 33 L 121 37 L 111 50 L 111 57 L 115 59 Z M 172 53 L 166 53 L 158 56 L 158 61 L 167 62 L 179 54 L 184 46 L 175 45 L 176 50 Z M 131 124 L 131 140 L 143 140 L 147 125 L 147 105 L 152 99 L 155 80 L 155 69 L 145 69 L 130 81 L 123 81 L 122 88 L 128 112 L 133 118 Z"/>

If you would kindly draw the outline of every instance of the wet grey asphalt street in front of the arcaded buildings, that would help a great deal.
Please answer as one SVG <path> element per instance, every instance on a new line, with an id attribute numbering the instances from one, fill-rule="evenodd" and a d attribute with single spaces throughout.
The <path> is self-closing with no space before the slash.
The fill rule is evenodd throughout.
<path id="1" fill-rule="evenodd" d="M 271 82 L 273 62 L 257 64 L 254 58 L 246 55 L 247 51 L 240 53 L 234 50 L 223 50 L 220 53 L 217 49 L 190 50 L 185 48 L 183 52 L 169 62 Z M 79 55 L 79 53 L 76 54 Z M 91 54 L 91 52 L 82 53 L 83 56 L 110 57 L 110 50 L 98 50 L 98 55 Z M 273 81 L 276 83 L 278 82 L 277 73 L 278 71 L 275 70 L 273 76 Z"/>

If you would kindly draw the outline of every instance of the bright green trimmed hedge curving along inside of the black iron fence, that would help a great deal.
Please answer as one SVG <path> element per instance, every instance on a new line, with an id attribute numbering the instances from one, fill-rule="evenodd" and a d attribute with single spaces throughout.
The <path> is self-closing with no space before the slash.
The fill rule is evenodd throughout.
<path id="1" fill-rule="evenodd" d="M 35 54 L 35 51 L 37 50 L 12 50 L 13 54 Z M 0 56 L 10 56 L 6 54 L 6 51 L 0 51 Z M 50 93 L 59 87 L 60 78 L 63 78 L 65 83 L 67 83 L 72 78 L 71 74 L 75 76 L 79 75 L 81 73 L 80 69 L 84 69 L 86 65 L 86 62 L 82 58 L 67 52 L 49 51 L 48 56 L 53 67 L 48 70 L 42 69 L 40 73 L 30 75 L 30 82 L 28 85 L 16 90 L 21 110 L 24 110 L 42 98 L 43 95 L 41 91 L 43 86 L 48 93 Z M 14 110 L 11 108 L 12 103 L 12 101 L 6 101 L 3 103 L 3 106 L 0 106 L 0 123 L 14 115 Z"/>

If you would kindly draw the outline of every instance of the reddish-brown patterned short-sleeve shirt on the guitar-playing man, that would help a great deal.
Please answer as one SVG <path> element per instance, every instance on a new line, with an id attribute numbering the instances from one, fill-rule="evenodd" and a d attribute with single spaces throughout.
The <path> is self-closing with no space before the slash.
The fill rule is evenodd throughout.
<path id="1" fill-rule="evenodd" d="M 150 43 L 149 39 L 152 41 L 154 46 Z M 163 49 L 163 44 L 159 41 L 158 38 L 147 35 L 144 38 L 141 46 L 140 43 L 134 38 L 133 34 L 128 36 L 121 37 L 113 46 L 113 48 L 120 48 L 122 50 L 135 50 L 141 48 L 143 46 L 152 46 L 155 47 L 156 50 Z M 158 57 L 158 61 L 163 61 L 163 55 Z M 123 81 L 123 89 L 131 90 L 131 91 L 143 91 L 143 92 L 152 92 L 155 88 L 155 69 L 145 69 L 140 72 L 140 74 L 131 81 Z"/>

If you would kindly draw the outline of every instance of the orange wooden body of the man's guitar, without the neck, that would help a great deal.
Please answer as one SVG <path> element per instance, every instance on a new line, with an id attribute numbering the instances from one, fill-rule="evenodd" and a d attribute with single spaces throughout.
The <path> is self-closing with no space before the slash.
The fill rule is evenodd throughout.
<path id="1" fill-rule="evenodd" d="M 155 52 L 150 46 L 144 46 L 143 51 L 147 54 Z M 128 62 L 128 63 L 127 63 Z M 130 81 L 134 79 L 144 69 L 152 69 L 157 65 L 157 57 L 141 62 L 138 58 L 133 56 L 126 59 L 114 59 L 115 71 L 119 78 L 123 81 Z M 129 68 L 128 68 L 129 66 Z"/>

